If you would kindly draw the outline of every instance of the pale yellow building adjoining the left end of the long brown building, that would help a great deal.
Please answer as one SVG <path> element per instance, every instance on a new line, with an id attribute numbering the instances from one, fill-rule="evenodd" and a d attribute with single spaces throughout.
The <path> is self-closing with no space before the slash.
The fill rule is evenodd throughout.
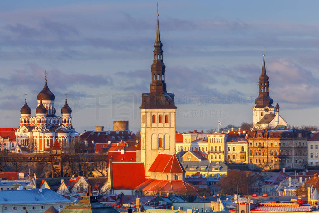
<path id="1" fill-rule="evenodd" d="M 229 138 L 226 141 L 227 161 L 232 163 L 247 163 L 248 141 L 244 138 Z"/>

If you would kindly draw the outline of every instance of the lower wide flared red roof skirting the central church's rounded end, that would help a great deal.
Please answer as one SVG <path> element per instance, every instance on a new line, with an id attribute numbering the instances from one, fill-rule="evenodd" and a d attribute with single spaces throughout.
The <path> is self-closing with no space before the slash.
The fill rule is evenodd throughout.
<path id="1" fill-rule="evenodd" d="M 183 192 L 183 191 L 199 191 L 196 186 L 184 180 L 156 180 L 146 179 L 136 189 L 143 191 L 164 191 L 164 192 Z"/>

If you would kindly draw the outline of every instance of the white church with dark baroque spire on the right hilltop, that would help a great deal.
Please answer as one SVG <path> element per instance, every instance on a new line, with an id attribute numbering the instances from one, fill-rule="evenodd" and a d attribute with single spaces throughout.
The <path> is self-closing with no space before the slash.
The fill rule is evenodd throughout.
<path id="1" fill-rule="evenodd" d="M 253 107 L 253 128 L 284 129 L 288 123 L 280 117 L 278 103 L 275 107 L 272 106 L 274 101 L 269 96 L 268 79 L 265 54 L 263 54 L 263 67 L 258 82 L 258 97 L 255 99 L 256 106 Z"/>

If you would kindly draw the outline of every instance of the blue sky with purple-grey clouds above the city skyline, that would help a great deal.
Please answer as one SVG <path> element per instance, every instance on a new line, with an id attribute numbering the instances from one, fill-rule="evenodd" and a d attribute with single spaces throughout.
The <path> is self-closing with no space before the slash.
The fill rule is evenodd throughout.
<path id="1" fill-rule="evenodd" d="M 149 92 L 156 1 L 1 1 L 0 127 L 35 115 L 44 86 L 65 93 L 80 133 L 129 120 Z M 159 1 L 167 92 L 176 130 L 252 122 L 265 48 L 270 96 L 293 126 L 318 124 L 318 1 Z"/>

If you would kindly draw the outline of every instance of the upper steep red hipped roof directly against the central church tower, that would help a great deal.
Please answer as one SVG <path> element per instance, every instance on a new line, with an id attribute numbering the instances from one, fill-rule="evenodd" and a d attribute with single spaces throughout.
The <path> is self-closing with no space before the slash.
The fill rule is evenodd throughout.
<path id="1" fill-rule="evenodd" d="M 148 171 L 161 173 L 183 173 L 183 166 L 175 154 L 159 153 Z"/>

